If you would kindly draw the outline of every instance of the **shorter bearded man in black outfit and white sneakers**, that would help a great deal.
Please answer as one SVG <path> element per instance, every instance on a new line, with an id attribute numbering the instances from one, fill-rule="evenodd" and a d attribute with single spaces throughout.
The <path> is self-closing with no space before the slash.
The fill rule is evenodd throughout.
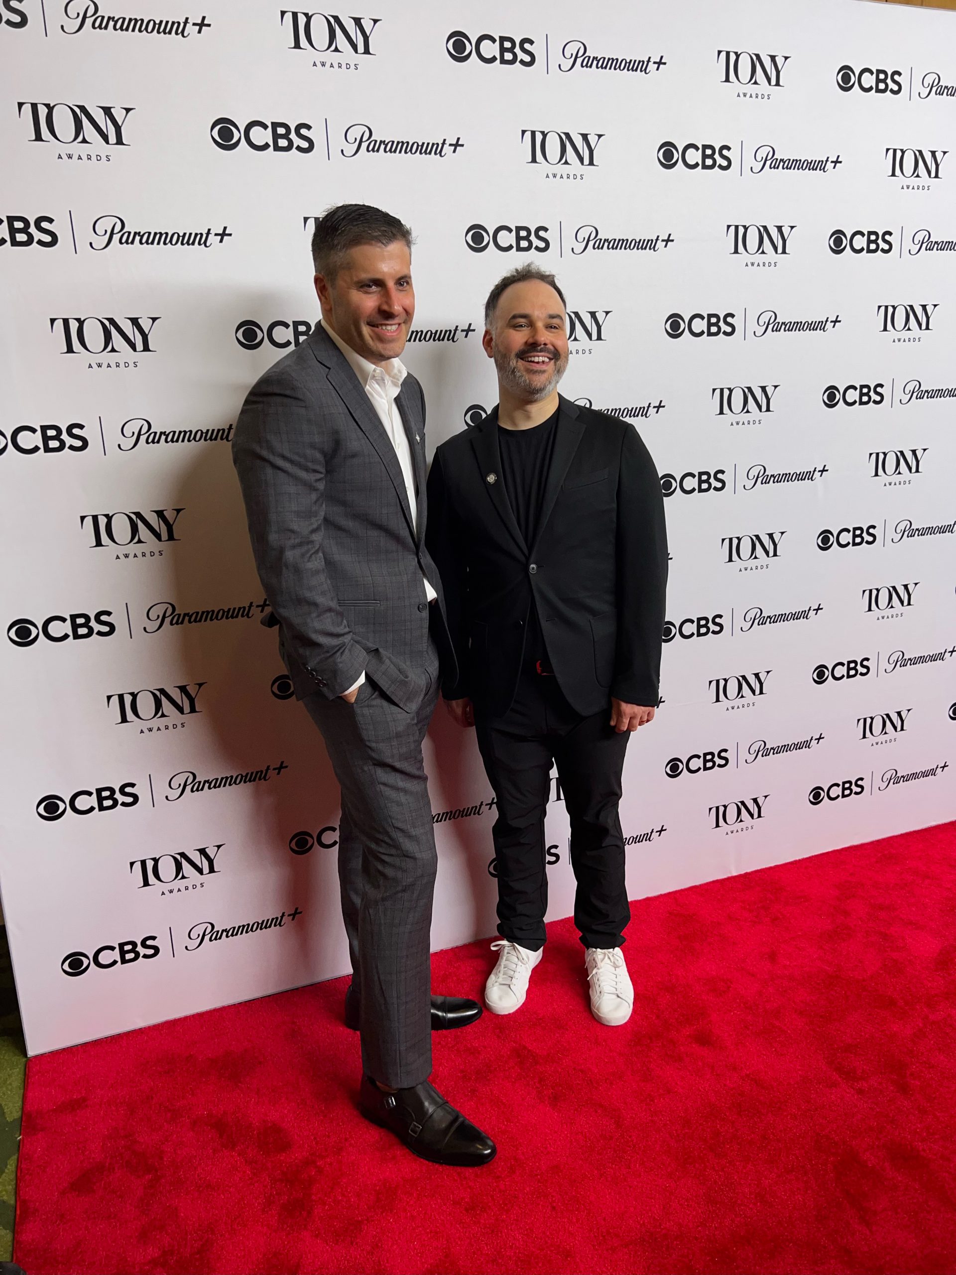
<path id="1" fill-rule="evenodd" d="M 459 676 L 451 715 L 475 725 L 497 799 L 495 1014 L 526 996 L 544 946 L 544 810 L 552 761 L 571 822 L 575 924 L 591 1012 L 626 1023 L 631 913 L 618 817 L 631 731 L 658 704 L 667 583 L 664 502 L 634 426 L 557 393 L 569 358 L 565 297 L 525 265 L 491 291 L 484 351 L 498 405 L 442 444 L 428 478 L 430 552 Z"/>

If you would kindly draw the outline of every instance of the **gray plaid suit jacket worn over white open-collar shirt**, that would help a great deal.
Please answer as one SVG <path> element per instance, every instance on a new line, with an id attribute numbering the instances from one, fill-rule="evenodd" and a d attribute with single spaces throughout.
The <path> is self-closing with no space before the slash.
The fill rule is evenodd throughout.
<path id="1" fill-rule="evenodd" d="M 418 532 L 395 449 L 321 326 L 249 391 L 232 442 L 259 578 L 297 699 L 335 699 L 365 671 L 405 711 L 424 690 L 428 604 L 454 659 L 438 572 L 424 547 L 424 395 L 396 398 L 412 448 Z"/>

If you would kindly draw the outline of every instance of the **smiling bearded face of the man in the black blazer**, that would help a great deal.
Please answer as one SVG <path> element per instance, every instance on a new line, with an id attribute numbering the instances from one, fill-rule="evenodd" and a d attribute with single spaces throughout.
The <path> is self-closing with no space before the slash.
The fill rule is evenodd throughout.
<path id="1" fill-rule="evenodd" d="M 482 344 L 498 384 L 525 403 L 554 391 L 567 368 L 567 316 L 561 297 L 540 279 L 512 283 L 498 298 Z"/>

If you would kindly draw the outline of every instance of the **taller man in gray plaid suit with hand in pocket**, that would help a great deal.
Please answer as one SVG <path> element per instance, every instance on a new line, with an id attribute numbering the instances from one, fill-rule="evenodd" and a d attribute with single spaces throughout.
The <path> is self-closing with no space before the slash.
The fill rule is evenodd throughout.
<path id="1" fill-rule="evenodd" d="M 454 660 L 424 547 L 424 397 L 399 362 L 412 235 L 342 204 L 312 238 L 321 325 L 256 381 L 233 462 L 279 650 L 342 785 L 339 884 L 361 1030 L 359 1107 L 417 1155 L 477 1165 L 495 1144 L 428 1082 L 431 1033 L 474 1001 L 431 997 L 436 852 L 422 741 Z"/>

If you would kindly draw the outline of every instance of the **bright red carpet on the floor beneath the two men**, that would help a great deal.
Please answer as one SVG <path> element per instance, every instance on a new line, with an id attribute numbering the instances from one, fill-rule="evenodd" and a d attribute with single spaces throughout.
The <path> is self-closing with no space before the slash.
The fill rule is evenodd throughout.
<path id="1" fill-rule="evenodd" d="M 29 1063 L 17 1261 L 120 1272 L 952 1272 L 956 824 L 634 907 L 602 1028 L 571 923 L 525 1007 L 435 1038 L 498 1144 L 353 1109 L 344 982 Z M 478 996 L 487 942 L 435 958 Z"/>

